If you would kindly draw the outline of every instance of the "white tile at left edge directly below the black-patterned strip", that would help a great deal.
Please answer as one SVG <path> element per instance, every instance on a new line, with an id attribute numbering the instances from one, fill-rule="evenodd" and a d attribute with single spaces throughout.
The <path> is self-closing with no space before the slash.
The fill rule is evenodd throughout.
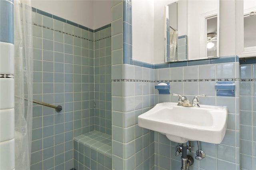
<path id="1" fill-rule="evenodd" d="M 0 78 L 0 109 L 14 108 L 14 79 Z"/>

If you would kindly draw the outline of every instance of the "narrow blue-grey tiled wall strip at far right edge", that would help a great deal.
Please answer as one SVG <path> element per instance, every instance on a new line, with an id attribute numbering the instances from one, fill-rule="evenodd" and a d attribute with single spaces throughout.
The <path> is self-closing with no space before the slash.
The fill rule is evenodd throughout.
<path id="1" fill-rule="evenodd" d="M 256 169 L 256 58 L 240 60 L 241 169 Z"/>

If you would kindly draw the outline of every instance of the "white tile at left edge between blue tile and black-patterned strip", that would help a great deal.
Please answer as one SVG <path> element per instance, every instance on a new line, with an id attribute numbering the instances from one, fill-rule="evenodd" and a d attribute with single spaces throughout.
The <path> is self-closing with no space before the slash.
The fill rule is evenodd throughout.
<path id="1" fill-rule="evenodd" d="M 0 73 L 14 74 L 14 45 L 0 42 Z"/>

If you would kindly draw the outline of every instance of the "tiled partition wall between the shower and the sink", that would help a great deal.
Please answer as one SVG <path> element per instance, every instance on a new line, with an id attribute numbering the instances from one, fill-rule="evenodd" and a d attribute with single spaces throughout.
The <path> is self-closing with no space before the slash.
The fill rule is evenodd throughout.
<path id="1" fill-rule="evenodd" d="M 112 168 L 149 170 L 154 132 L 138 127 L 137 117 L 154 106 L 154 69 L 132 60 L 129 2 L 112 1 Z"/>

